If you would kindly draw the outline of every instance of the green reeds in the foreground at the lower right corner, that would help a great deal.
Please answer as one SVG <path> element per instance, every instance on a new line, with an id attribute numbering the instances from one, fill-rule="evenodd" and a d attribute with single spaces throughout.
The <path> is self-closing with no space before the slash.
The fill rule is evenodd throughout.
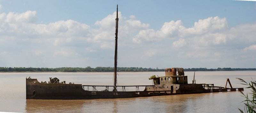
<path id="1" fill-rule="evenodd" d="M 256 109 L 256 81 L 251 81 L 251 83 L 247 83 L 245 82 L 243 79 L 237 78 L 239 79 L 243 85 L 246 85 L 248 87 L 246 88 L 251 88 L 251 92 L 249 93 L 250 97 L 248 96 L 248 93 L 245 95 L 243 92 L 240 91 L 241 94 L 243 94 L 242 96 L 246 99 L 244 103 L 244 111 L 247 113 L 256 113 L 255 109 Z M 239 109 L 239 108 L 238 108 Z M 244 113 L 244 111 L 242 109 L 239 109 L 241 113 Z"/>

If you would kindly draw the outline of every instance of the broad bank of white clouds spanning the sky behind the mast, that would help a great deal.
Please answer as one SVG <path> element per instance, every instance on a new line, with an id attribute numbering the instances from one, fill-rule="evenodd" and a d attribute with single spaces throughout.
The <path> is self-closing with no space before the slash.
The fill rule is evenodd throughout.
<path id="1" fill-rule="evenodd" d="M 142 61 L 150 61 L 155 65 L 158 62 L 165 62 L 165 58 L 177 59 L 170 61 L 174 64 L 219 63 L 226 62 L 224 60 L 231 57 L 239 60 L 242 58 L 241 53 L 256 50 L 256 24 L 228 28 L 226 18 L 209 17 L 198 20 L 189 28 L 186 28 L 181 20 L 170 20 L 157 30 L 150 28 L 143 20 L 137 20 L 134 15 L 126 19 L 121 12 L 118 14 L 119 56 L 126 58 L 120 57 L 119 60 L 124 66 L 129 64 L 127 59 L 136 61 L 135 64 L 138 65 L 134 65 L 139 67 L 143 67 Z M 75 20 L 37 24 L 36 11 L 1 13 L 0 47 L 6 50 L 0 52 L 0 57 L 3 59 L 3 56 L 12 55 L 11 59 L 28 59 L 26 62 L 35 62 L 40 58 L 49 59 L 44 60 L 44 64 L 55 67 L 60 67 L 63 61 L 66 61 L 66 64 L 79 64 L 80 67 L 88 62 L 96 66 L 105 66 L 110 63 L 106 61 L 106 64 L 100 65 L 98 63 L 103 62 L 98 62 L 97 58 L 113 58 L 109 51 L 114 49 L 115 19 L 114 12 L 96 21 L 95 28 Z M 156 56 L 158 59 L 154 59 Z M 84 59 L 86 63 L 68 59 Z M 15 62 L 13 61 L 14 64 Z M 166 61 L 166 64 L 170 62 Z M 148 67 L 152 67 L 150 63 Z M 44 64 L 35 65 L 42 67 Z"/>

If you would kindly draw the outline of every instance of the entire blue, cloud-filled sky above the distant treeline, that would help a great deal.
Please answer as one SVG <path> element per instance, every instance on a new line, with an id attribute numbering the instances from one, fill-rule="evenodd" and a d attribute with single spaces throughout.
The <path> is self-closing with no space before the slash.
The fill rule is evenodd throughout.
<path id="1" fill-rule="evenodd" d="M 0 0 L 0 67 L 256 68 L 256 2 Z"/>

